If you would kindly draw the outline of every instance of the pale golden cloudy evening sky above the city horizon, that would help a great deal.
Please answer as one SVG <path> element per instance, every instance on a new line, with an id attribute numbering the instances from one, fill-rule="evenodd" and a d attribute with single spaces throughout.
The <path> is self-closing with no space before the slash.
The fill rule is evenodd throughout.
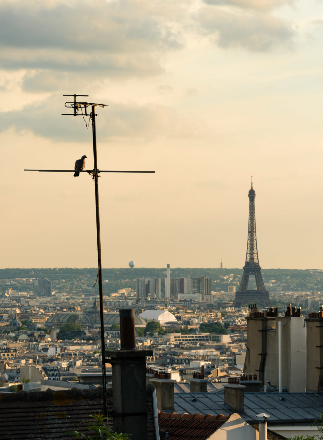
<path id="1" fill-rule="evenodd" d="M 322 268 L 323 0 L 0 0 L 0 268 Z M 87 119 L 88 122 L 88 119 Z"/>

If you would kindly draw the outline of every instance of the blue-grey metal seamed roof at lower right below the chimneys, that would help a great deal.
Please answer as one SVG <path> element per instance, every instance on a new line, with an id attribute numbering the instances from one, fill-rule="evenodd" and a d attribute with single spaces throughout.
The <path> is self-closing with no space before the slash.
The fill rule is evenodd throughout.
<path id="1" fill-rule="evenodd" d="M 234 412 L 224 402 L 224 391 L 205 393 L 174 393 L 176 412 L 189 414 L 224 414 Z M 323 392 L 245 392 L 244 411 L 235 411 L 248 423 L 259 422 L 256 415 L 265 412 L 271 417 L 267 422 L 298 422 L 312 424 L 323 413 Z"/>

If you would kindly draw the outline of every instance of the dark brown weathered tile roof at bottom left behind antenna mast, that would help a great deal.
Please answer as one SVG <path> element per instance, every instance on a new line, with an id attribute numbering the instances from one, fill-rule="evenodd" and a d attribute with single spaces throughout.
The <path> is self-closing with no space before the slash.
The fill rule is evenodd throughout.
<path id="1" fill-rule="evenodd" d="M 109 425 L 113 428 L 112 389 L 107 389 Z M 156 440 L 152 395 L 147 392 L 148 439 Z M 56 440 L 66 431 L 84 431 L 81 422 L 90 414 L 102 414 L 102 387 L 90 390 L 73 388 L 64 392 L 20 391 L 0 393 L 0 438 L 10 440 Z M 64 436 L 73 439 L 74 436 Z"/>

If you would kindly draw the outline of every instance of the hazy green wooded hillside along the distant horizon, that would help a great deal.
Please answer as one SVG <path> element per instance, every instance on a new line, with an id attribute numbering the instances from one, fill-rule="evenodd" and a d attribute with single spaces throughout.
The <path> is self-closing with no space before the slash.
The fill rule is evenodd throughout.
<path id="1" fill-rule="evenodd" d="M 56 285 L 57 282 L 64 280 L 66 283 L 72 282 L 74 286 L 79 286 L 82 282 L 87 286 L 84 293 L 93 295 L 93 279 L 96 278 L 98 268 L 40 268 L 33 269 L 37 276 L 48 278 L 58 293 L 65 292 L 64 285 Z M 117 292 L 125 286 L 136 290 L 136 279 L 138 278 L 163 278 L 165 276 L 164 268 L 109 268 L 102 269 L 102 277 L 104 280 L 104 291 L 106 295 Z M 262 276 L 265 282 L 276 280 L 281 283 L 285 291 L 322 291 L 323 279 L 320 270 L 299 270 L 299 269 L 262 269 Z M 233 276 L 228 279 L 228 275 Z M 210 276 L 212 279 L 212 290 L 228 291 L 228 286 L 239 286 L 242 268 L 172 268 L 173 278 L 188 278 L 201 275 Z M 14 289 L 18 292 L 27 292 L 32 290 L 32 284 L 26 279 L 30 279 L 32 275 L 31 269 L 14 268 L 0 269 L 0 290 Z M 11 284 L 10 280 L 15 279 L 15 284 Z M 7 282 L 9 280 L 9 284 Z M 253 280 L 250 280 L 252 282 Z M 275 288 L 275 282 L 273 288 Z M 251 286 L 250 286 L 251 287 Z M 310 288 L 309 288 L 310 287 Z M 97 289 L 96 289 L 97 291 Z M 294 304 L 296 305 L 296 304 Z M 284 302 L 283 306 L 286 306 Z"/>

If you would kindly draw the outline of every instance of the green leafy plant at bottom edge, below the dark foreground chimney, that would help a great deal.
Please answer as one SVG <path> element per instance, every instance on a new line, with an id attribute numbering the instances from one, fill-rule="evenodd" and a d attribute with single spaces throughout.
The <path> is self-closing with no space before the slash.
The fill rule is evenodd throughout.
<path id="1" fill-rule="evenodd" d="M 93 422 L 88 422 L 87 420 L 84 420 L 82 423 L 87 423 L 87 426 L 85 426 L 85 430 L 88 431 L 89 434 L 94 433 L 94 435 L 87 435 L 80 431 L 67 431 L 63 435 L 74 436 L 74 439 L 81 438 L 86 440 L 129 440 L 129 436 L 131 434 L 117 434 L 111 432 L 111 428 L 107 424 L 105 424 L 105 421 L 107 421 L 108 418 L 104 417 L 103 414 L 93 414 L 90 417 L 94 419 Z"/>

